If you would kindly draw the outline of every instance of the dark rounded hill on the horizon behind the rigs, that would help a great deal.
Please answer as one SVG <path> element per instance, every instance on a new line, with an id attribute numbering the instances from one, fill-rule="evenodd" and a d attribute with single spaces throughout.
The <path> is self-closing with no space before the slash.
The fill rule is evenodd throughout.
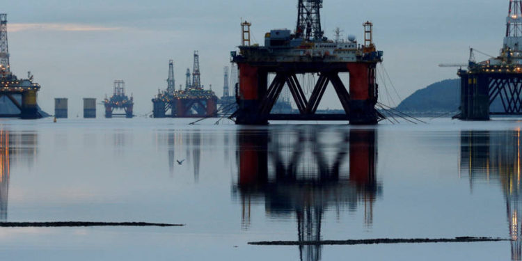
<path id="1" fill-rule="evenodd" d="M 459 105 L 460 79 L 447 79 L 417 90 L 396 109 L 414 113 L 450 112 L 457 111 Z"/>

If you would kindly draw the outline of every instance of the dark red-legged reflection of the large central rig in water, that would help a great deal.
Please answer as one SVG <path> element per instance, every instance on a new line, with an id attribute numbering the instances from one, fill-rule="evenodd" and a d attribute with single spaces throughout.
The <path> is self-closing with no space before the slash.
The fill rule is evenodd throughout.
<path id="1" fill-rule="evenodd" d="M 301 260 L 320 260 L 326 209 L 364 207 L 372 226 L 373 203 L 381 195 L 377 182 L 375 129 L 331 129 L 317 126 L 242 129 L 237 134 L 238 179 L 234 191 L 242 201 L 242 226 L 250 226 L 250 205 L 264 200 L 265 211 L 296 216 Z"/>

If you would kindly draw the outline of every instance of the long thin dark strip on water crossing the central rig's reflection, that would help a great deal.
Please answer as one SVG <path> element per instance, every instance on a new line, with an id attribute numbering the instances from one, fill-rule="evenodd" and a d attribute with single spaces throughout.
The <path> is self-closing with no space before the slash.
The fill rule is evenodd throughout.
<path id="1" fill-rule="evenodd" d="M 249 245 L 261 246 L 306 246 L 306 245 L 361 245 L 361 244 L 418 244 L 418 243 L 455 243 L 455 242 L 500 242 L 511 241 L 511 239 L 493 237 L 455 237 L 441 239 L 351 239 L 351 240 L 324 240 L 324 241 L 267 241 L 267 242 L 248 242 Z"/>

